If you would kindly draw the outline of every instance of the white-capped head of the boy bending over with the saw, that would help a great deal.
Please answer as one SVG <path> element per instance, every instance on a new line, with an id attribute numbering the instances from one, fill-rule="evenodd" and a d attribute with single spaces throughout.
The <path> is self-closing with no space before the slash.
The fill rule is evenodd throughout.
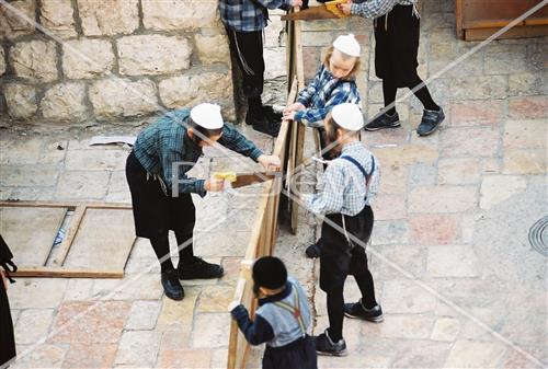
<path id="1" fill-rule="evenodd" d="M 189 137 L 199 147 L 212 146 L 222 135 L 222 116 L 217 104 L 199 104 L 191 109 Z"/>

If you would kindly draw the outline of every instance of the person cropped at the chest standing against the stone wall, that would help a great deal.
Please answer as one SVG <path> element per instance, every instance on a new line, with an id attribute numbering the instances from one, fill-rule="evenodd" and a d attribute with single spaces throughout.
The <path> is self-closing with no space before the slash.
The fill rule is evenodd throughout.
<path id="1" fill-rule="evenodd" d="M 242 72 L 243 94 L 248 99 L 246 123 L 276 137 L 282 114 L 261 101 L 264 84 L 263 30 L 269 9 L 300 7 L 302 0 L 219 0 L 219 13 L 227 30 L 230 53 Z"/>

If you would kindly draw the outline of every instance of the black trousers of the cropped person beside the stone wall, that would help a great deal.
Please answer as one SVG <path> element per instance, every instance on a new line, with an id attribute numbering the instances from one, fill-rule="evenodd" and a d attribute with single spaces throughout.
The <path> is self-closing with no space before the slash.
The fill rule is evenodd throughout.
<path id="1" fill-rule="evenodd" d="M 264 87 L 263 32 L 227 30 L 230 53 L 242 72 L 242 90 L 248 99 L 260 97 Z"/>

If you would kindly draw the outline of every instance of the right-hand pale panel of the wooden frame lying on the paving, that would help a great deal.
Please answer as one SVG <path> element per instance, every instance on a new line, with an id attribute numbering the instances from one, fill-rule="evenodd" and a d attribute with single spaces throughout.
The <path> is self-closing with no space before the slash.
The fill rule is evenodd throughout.
<path id="1" fill-rule="evenodd" d="M 134 241 L 132 210 L 87 209 L 62 266 L 98 272 L 123 270 Z"/>

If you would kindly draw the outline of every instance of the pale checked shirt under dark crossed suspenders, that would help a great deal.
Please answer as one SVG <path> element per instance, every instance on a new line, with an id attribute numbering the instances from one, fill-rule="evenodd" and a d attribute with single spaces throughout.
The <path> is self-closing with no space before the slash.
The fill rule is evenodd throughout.
<path id="1" fill-rule="evenodd" d="M 373 153 L 362 142 L 345 145 L 341 155 L 354 158 L 367 173 L 370 173 Z M 304 195 L 304 201 L 307 209 L 317 215 L 340 212 L 353 217 L 366 205 L 370 205 L 377 195 L 380 182 L 377 158 L 375 158 L 375 170 L 367 187 L 365 181 L 355 164 L 344 159 L 335 159 L 329 163 L 323 173 L 323 191 L 318 194 Z"/>

